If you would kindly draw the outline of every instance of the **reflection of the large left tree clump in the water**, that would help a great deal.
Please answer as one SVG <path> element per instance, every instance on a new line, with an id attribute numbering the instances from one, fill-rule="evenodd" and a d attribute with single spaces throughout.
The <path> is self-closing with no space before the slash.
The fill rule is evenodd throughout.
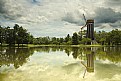
<path id="1" fill-rule="evenodd" d="M 15 68 L 19 68 L 27 62 L 33 52 L 32 48 L 1 48 L 0 66 L 12 64 Z"/>

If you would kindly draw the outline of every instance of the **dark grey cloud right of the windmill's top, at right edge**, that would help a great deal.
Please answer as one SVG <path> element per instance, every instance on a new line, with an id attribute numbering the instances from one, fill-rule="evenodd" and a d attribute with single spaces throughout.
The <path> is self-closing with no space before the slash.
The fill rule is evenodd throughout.
<path id="1" fill-rule="evenodd" d="M 121 13 L 111 8 L 97 8 L 95 20 L 97 23 L 115 23 L 121 20 Z"/>

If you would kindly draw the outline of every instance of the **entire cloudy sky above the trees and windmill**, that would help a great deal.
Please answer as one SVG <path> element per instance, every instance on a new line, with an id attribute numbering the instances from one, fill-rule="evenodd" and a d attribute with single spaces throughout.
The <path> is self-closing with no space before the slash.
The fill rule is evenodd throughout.
<path id="1" fill-rule="evenodd" d="M 0 0 L 0 25 L 19 24 L 34 36 L 64 37 L 78 32 L 83 15 L 95 30 L 121 27 L 121 0 Z"/>

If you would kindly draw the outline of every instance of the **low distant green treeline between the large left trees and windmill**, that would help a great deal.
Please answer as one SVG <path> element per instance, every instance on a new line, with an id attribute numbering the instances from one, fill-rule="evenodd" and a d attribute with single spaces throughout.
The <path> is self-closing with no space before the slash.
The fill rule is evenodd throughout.
<path id="1" fill-rule="evenodd" d="M 89 38 L 82 38 L 80 34 L 73 33 L 73 36 L 69 34 L 64 38 L 57 38 L 57 37 L 38 37 L 34 38 L 33 44 L 54 44 L 54 45 L 78 45 L 78 44 L 87 44 L 90 42 L 91 39 Z"/>

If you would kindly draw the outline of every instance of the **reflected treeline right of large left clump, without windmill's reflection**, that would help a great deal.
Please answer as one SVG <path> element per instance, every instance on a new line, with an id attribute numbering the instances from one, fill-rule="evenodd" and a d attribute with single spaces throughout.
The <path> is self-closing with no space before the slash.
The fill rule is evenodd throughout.
<path id="1" fill-rule="evenodd" d="M 100 60 L 109 60 L 117 63 L 121 62 L 121 47 L 69 47 L 69 46 L 42 46 L 33 48 L 37 52 L 56 52 L 64 51 L 68 56 L 72 55 L 74 59 L 87 60 L 87 54 L 92 54 Z"/>

